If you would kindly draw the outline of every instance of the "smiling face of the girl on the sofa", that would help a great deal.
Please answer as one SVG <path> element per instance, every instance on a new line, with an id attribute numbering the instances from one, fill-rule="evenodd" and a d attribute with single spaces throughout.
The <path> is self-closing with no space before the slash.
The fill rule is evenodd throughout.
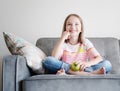
<path id="1" fill-rule="evenodd" d="M 75 16 L 69 17 L 66 21 L 66 31 L 70 32 L 71 37 L 79 36 L 79 33 L 81 32 L 80 20 Z"/>

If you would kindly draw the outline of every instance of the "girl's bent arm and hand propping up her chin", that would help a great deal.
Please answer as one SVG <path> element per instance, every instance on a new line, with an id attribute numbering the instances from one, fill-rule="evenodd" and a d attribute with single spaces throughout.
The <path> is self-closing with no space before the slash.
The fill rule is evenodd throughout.
<path id="1" fill-rule="evenodd" d="M 52 56 L 59 59 L 62 54 L 63 54 L 63 44 L 65 42 L 65 40 L 68 38 L 69 36 L 69 32 L 65 31 L 62 33 L 61 38 L 59 39 L 58 43 L 56 44 L 55 48 L 52 51 Z"/>

